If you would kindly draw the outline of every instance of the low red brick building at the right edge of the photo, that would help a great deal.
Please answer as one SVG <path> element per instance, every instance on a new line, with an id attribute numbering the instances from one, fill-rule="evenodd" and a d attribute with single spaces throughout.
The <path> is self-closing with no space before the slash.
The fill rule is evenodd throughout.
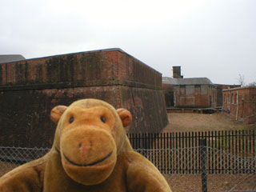
<path id="1" fill-rule="evenodd" d="M 256 87 L 223 90 L 223 111 L 246 124 L 256 122 Z"/>

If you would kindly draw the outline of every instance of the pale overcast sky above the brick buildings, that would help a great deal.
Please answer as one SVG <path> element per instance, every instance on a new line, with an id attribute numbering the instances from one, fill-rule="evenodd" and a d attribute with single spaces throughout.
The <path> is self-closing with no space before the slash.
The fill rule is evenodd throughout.
<path id="1" fill-rule="evenodd" d="M 255 0 L 1 0 L 0 54 L 118 47 L 172 77 L 256 81 Z"/>

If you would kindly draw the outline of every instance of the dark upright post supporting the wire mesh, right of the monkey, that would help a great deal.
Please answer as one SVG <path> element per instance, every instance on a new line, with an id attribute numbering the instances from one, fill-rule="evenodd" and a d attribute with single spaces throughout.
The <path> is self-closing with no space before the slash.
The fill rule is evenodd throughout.
<path id="1" fill-rule="evenodd" d="M 199 139 L 200 146 L 200 170 L 202 175 L 202 192 L 207 192 L 207 174 L 206 174 L 206 138 Z"/>

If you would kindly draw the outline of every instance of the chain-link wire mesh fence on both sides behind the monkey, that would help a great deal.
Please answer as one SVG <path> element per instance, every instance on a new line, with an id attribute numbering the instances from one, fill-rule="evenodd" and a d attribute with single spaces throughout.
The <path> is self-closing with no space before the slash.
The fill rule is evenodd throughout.
<path id="1" fill-rule="evenodd" d="M 49 148 L 0 146 L 0 177 L 22 163 L 42 157 Z M 137 149 L 164 174 L 176 191 L 256 191 L 256 157 L 242 157 L 204 146 L 166 149 Z M 211 162 L 210 155 L 218 161 Z M 230 161 L 220 162 L 219 159 Z M 229 162 L 235 162 L 229 164 Z M 225 171 L 216 171 L 221 163 Z M 214 170 L 214 171 L 213 171 Z"/>

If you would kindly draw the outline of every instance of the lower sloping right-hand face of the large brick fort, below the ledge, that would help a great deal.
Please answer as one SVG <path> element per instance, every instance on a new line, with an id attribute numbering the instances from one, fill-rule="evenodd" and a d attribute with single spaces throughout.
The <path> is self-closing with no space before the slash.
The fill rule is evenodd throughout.
<path id="1" fill-rule="evenodd" d="M 134 126 L 130 132 L 158 132 L 167 125 L 166 106 L 162 90 L 148 90 L 122 86 L 122 107 L 130 110 L 134 115 Z M 161 107 L 159 107 L 161 106 Z M 150 111 L 150 113 L 149 113 Z M 161 114 L 162 118 L 158 118 Z M 136 130 L 136 127 L 139 127 Z"/>

